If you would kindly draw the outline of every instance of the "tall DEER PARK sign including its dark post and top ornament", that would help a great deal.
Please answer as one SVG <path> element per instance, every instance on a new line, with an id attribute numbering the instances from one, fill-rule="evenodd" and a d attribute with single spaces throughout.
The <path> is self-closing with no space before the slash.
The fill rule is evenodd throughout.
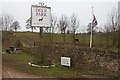
<path id="1" fill-rule="evenodd" d="M 31 6 L 31 26 L 39 27 L 40 30 L 40 43 L 42 43 L 43 28 L 51 27 L 51 7 L 44 6 L 40 2 L 39 5 Z M 40 45 L 43 48 L 43 45 Z M 45 64 L 45 54 L 41 53 L 41 64 Z"/>

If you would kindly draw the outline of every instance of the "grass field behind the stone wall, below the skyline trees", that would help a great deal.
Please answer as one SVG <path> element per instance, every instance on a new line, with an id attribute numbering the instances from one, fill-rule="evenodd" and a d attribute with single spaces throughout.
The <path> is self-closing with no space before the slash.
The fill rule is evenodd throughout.
<path id="1" fill-rule="evenodd" d="M 45 43 L 68 43 L 73 44 L 73 38 L 72 34 L 65 34 L 65 42 L 64 42 L 64 34 L 53 34 L 53 37 L 51 37 L 50 33 L 44 33 L 43 39 L 40 39 L 39 33 L 32 33 L 32 32 L 15 32 L 16 36 L 20 38 L 20 40 L 26 41 L 26 42 L 45 42 Z M 89 47 L 90 42 L 90 36 L 89 35 L 75 35 L 76 39 L 79 39 L 79 42 L 75 42 L 75 44 L 79 44 L 81 46 L 87 46 Z M 52 40 L 52 41 L 51 41 Z M 107 44 L 108 43 L 108 44 Z M 106 36 L 103 35 L 94 35 L 93 36 L 93 47 L 111 47 L 112 46 L 112 40 L 109 39 L 107 42 Z"/>

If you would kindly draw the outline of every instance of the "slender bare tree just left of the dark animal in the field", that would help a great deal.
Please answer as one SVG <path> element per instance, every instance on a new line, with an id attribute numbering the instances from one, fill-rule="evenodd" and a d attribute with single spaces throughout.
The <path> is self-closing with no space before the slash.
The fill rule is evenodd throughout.
<path id="1" fill-rule="evenodd" d="M 71 28 L 71 32 L 72 32 L 72 38 L 73 38 L 73 42 L 75 43 L 75 33 L 76 33 L 76 30 L 77 28 L 79 27 L 79 21 L 77 19 L 77 16 L 75 14 L 73 14 L 71 17 L 70 17 L 70 28 Z"/>

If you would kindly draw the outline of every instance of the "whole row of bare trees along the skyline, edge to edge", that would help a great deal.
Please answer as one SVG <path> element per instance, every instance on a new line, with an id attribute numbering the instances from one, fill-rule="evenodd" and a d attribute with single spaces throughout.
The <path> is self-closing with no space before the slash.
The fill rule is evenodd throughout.
<path id="1" fill-rule="evenodd" d="M 39 29 L 39 27 L 31 26 L 30 23 L 31 23 L 31 18 L 26 20 L 26 29 L 31 29 L 32 32 L 34 29 Z M 54 33 L 56 32 L 61 33 L 64 43 L 66 42 L 65 34 L 71 34 L 71 37 L 75 43 L 74 39 L 76 39 L 75 35 L 76 33 L 78 33 L 77 30 L 80 29 L 80 27 L 86 27 L 87 29 L 84 29 L 82 32 L 90 34 L 91 31 L 90 24 L 91 23 L 88 23 L 88 25 L 86 26 L 81 25 L 79 22 L 79 18 L 76 14 L 72 14 L 70 17 L 68 17 L 67 15 L 61 15 L 59 18 L 55 15 L 52 15 L 51 28 L 44 28 L 43 32 L 51 33 L 51 37 L 50 37 L 51 41 L 53 39 Z M 3 13 L 0 15 L 1 30 L 17 31 L 20 28 L 21 27 L 19 25 L 19 22 L 16 21 L 10 14 Z M 120 27 L 118 26 L 118 10 L 116 8 L 113 8 L 111 12 L 108 13 L 106 22 L 103 26 L 95 26 L 92 28 L 93 36 L 95 34 L 103 33 L 102 35 L 107 40 L 106 44 L 112 43 L 112 46 L 114 47 L 120 47 L 119 30 Z"/>

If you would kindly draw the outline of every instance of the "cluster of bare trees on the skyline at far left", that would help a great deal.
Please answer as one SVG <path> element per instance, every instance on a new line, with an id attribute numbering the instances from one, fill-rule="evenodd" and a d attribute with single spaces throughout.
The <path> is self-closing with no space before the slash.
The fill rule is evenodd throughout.
<path id="1" fill-rule="evenodd" d="M 17 31 L 20 29 L 20 24 L 8 13 L 2 13 L 0 15 L 0 30 L 2 31 Z"/>

